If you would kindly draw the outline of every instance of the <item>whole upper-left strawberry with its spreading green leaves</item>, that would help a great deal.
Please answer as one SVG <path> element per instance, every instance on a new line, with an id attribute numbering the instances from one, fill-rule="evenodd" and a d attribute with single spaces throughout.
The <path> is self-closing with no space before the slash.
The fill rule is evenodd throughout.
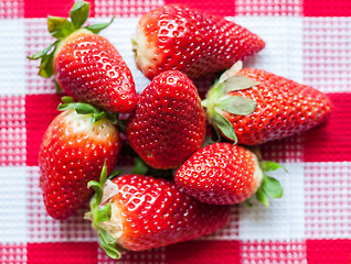
<path id="1" fill-rule="evenodd" d="M 57 41 L 29 56 L 41 58 L 39 74 L 54 74 L 59 86 L 78 101 L 110 112 L 131 112 L 137 102 L 131 73 L 113 44 L 98 33 L 109 25 L 81 28 L 89 14 L 89 3 L 76 2 L 64 18 L 47 16 L 47 29 Z"/>

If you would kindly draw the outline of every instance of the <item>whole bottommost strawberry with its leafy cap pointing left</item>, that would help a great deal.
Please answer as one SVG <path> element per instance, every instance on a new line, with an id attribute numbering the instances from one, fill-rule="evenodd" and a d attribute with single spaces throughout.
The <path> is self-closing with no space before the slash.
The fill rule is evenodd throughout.
<path id="1" fill-rule="evenodd" d="M 91 182 L 96 195 L 86 219 L 98 231 L 100 246 L 113 258 L 124 250 L 143 251 L 192 240 L 222 228 L 230 207 L 202 204 L 180 191 L 174 182 L 124 175 Z"/>

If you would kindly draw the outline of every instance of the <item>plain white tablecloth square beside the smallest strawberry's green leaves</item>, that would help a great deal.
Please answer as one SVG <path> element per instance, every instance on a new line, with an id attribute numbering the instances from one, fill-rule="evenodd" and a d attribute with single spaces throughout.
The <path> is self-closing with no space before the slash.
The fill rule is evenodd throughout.
<path id="1" fill-rule="evenodd" d="M 255 199 L 253 207 L 241 206 L 238 238 L 241 240 L 291 240 L 305 238 L 304 164 L 283 164 L 283 169 L 268 173 L 283 185 L 280 199 L 269 199 L 266 208 Z"/>

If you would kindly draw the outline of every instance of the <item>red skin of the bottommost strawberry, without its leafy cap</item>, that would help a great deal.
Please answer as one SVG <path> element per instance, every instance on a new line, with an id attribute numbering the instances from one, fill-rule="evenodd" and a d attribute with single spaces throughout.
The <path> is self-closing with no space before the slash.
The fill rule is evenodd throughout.
<path id="1" fill-rule="evenodd" d="M 172 180 L 125 175 L 113 183 L 118 194 L 110 202 L 119 209 L 123 222 L 117 244 L 124 249 L 143 251 L 192 240 L 228 221 L 227 206 L 199 202 L 180 191 Z"/>

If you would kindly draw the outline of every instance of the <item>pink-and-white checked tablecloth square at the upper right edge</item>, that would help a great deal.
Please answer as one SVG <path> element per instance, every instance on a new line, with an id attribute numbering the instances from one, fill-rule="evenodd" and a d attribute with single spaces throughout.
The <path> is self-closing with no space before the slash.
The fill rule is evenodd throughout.
<path id="1" fill-rule="evenodd" d="M 351 18 L 305 18 L 305 82 L 323 92 L 350 91 Z"/>

